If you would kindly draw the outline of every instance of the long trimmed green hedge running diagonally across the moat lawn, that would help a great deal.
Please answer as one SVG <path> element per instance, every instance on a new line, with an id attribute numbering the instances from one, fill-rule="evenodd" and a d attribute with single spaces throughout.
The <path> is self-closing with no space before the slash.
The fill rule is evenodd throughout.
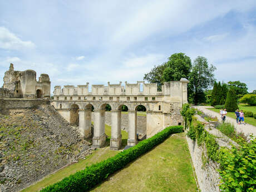
<path id="1" fill-rule="evenodd" d="M 166 127 L 163 131 L 150 137 L 149 139 L 139 142 L 139 144 L 120 152 L 114 157 L 110 157 L 100 163 L 87 166 L 82 171 L 77 171 L 75 174 L 64 178 L 63 180 L 47 186 L 42 189 L 42 192 L 48 191 L 87 191 L 95 185 L 104 181 L 110 174 L 124 168 L 128 163 L 137 159 L 145 152 L 151 150 L 156 145 L 163 142 L 171 134 L 183 131 L 183 126 Z"/>

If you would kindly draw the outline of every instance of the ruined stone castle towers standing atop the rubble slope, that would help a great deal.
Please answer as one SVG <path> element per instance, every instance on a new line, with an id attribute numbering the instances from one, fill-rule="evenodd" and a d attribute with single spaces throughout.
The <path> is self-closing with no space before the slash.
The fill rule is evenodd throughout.
<path id="1" fill-rule="evenodd" d="M 36 71 L 14 71 L 12 63 L 4 73 L 3 81 L 3 88 L 9 90 L 14 98 L 50 98 L 51 95 L 51 82 L 47 74 L 41 74 L 37 81 Z"/>

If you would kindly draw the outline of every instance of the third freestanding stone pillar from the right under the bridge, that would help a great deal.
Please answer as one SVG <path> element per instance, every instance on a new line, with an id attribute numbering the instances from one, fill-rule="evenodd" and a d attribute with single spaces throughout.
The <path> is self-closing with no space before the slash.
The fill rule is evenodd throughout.
<path id="1" fill-rule="evenodd" d="M 100 148 L 105 144 L 105 141 L 105 110 L 95 110 L 92 145 Z"/>

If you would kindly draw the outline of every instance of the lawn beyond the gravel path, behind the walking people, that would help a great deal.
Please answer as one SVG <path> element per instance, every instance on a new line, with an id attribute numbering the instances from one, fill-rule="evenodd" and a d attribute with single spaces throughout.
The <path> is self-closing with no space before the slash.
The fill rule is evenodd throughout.
<path id="1" fill-rule="evenodd" d="M 245 111 L 252 111 L 254 114 L 256 114 L 256 107 L 255 106 L 247 106 L 247 105 L 238 105 L 240 110 L 245 110 Z M 215 108 L 208 108 L 211 111 L 215 112 L 220 112 L 220 109 L 215 109 Z M 232 117 L 233 119 L 236 119 L 235 113 L 234 112 L 228 112 L 227 114 L 228 117 Z M 256 126 L 256 119 L 254 117 L 245 117 L 244 118 L 245 123 L 254 125 Z"/>

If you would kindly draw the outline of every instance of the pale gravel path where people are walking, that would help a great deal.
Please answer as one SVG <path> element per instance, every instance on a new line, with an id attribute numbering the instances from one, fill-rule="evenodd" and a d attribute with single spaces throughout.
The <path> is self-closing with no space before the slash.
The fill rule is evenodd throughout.
<path id="1" fill-rule="evenodd" d="M 210 106 L 192 106 L 192 107 L 195 109 L 198 109 L 199 111 L 202 111 L 205 115 L 208 115 L 210 117 L 217 117 L 220 122 L 222 121 L 220 114 L 206 109 L 206 108 L 211 108 Z M 250 125 L 250 124 L 238 125 L 237 120 L 231 117 L 226 117 L 226 122 L 230 122 L 231 124 L 233 124 L 235 126 L 235 129 L 237 129 L 237 132 L 244 132 L 245 135 L 253 134 L 254 136 L 256 136 L 256 127 L 253 125 Z"/>

